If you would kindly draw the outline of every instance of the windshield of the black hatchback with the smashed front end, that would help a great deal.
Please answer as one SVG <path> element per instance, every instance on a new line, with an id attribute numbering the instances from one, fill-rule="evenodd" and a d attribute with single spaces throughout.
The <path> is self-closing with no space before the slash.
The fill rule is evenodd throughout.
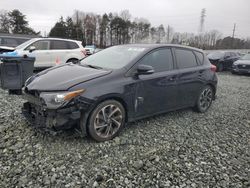
<path id="1" fill-rule="evenodd" d="M 114 46 L 83 59 L 81 64 L 107 69 L 120 69 L 144 50 L 145 48 L 141 47 Z"/>

